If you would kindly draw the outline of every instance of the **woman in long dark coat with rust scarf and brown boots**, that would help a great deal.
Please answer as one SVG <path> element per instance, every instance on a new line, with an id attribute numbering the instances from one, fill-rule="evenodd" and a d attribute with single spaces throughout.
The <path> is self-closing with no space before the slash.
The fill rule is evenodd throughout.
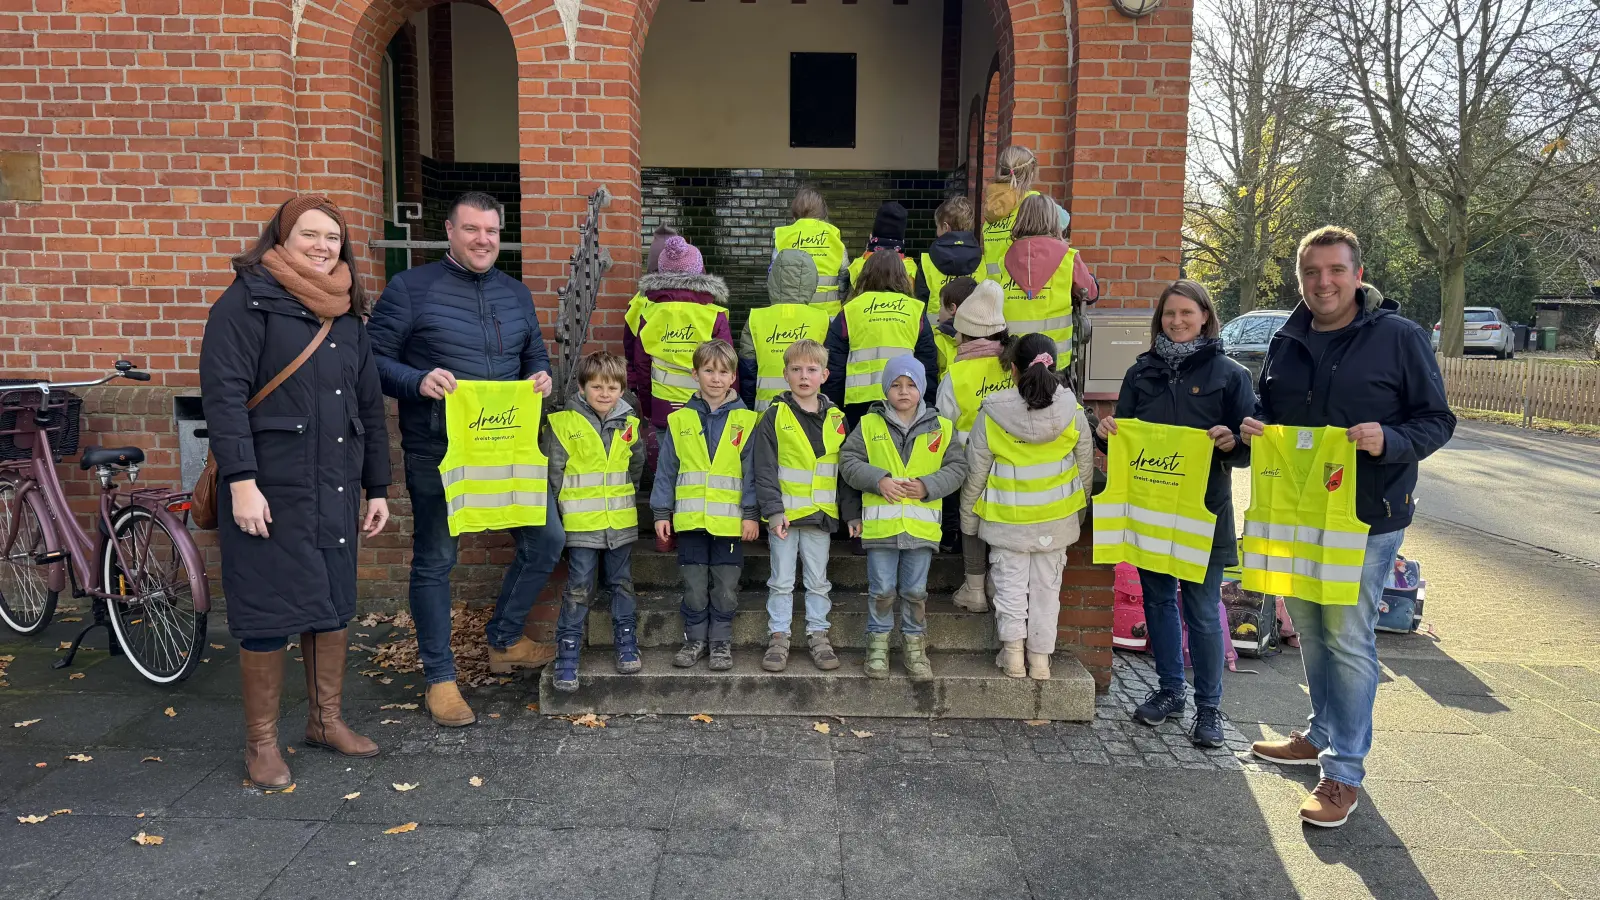
<path id="1" fill-rule="evenodd" d="M 227 626 L 240 641 L 245 682 L 245 769 L 258 788 L 293 783 L 277 721 L 294 634 L 310 700 L 306 743 L 378 754 L 339 714 L 355 546 L 389 520 L 384 399 L 346 235 L 326 197 L 278 207 L 256 247 L 234 258 L 234 283 L 211 306 L 200 346 L 206 429 L 226 485 L 218 530 Z M 318 340 L 323 323 L 330 330 Z M 248 408 L 314 340 L 304 364 Z"/>

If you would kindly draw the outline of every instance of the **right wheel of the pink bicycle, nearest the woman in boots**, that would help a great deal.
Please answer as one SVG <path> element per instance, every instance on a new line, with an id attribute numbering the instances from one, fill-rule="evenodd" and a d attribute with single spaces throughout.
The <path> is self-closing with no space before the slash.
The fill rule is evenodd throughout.
<path id="1" fill-rule="evenodd" d="M 149 509 L 126 506 L 112 517 L 101 549 L 101 577 L 110 626 L 139 674 L 171 684 L 200 663 L 206 613 L 195 610 L 194 586 L 179 541 Z M 118 554 L 118 548 L 122 548 Z M 126 567 L 123 567 L 126 560 Z"/>

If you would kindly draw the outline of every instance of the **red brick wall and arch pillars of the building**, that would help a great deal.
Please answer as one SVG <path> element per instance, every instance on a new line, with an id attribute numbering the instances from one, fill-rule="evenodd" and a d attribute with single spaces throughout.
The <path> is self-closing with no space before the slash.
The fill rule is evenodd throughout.
<path id="1" fill-rule="evenodd" d="M 493 0 L 517 46 L 525 280 L 549 322 L 584 199 L 608 186 L 603 242 L 618 264 L 594 340 L 611 346 L 640 266 L 638 66 L 654 2 L 587 2 L 568 46 L 549 0 Z M 96 392 L 91 440 L 144 444 L 147 474 L 176 479 L 170 397 L 197 386 L 229 256 L 293 191 L 333 195 L 360 247 L 381 234 L 379 61 L 429 5 L 307 0 L 291 34 L 288 0 L 0 0 L 0 151 L 38 152 L 43 170 L 42 202 L 0 202 L 0 370 L 141 360 L 157 383 Z M 1000 144 L 1038 154 L 1101 304 L 1152 303 L 1178 274 L 1190 0 L 1139 22 L 1110 0 L 992 0 L 990 11 Z M 413 38 L 427 48 L 426 34 Z M 376 250 L 362 261 L 371 290 L 381 263 Z M 405 596 L 397 524 L 363 549 L 368 596 Z M 493 594 L 506 554 L 467 541 L 474 596 Z M 1074 559 L 1062 636 L 1101 677 L 1110 597 Z"/>

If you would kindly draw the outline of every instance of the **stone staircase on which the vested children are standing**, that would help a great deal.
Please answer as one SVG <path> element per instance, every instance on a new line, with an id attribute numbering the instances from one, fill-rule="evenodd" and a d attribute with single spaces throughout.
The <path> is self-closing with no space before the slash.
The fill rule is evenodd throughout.
<path id="1" fill-rule="evenodd" d="M 642 511 L 640 520 L 648 512 Z M 611 615 L 589 613 L 589 647 L 579 665 L 581 687 L 560 693 L 552 687 L 552 668 L 539 682 L 539 709 L 546 714 L 683 714 L 725 716 L 904 716 L 971 719 L 1062 719 L 1094 716 L 1094 679 L 1067 650 L 1051 661 L 1051 681 L 1011 679 L 994 665 L 998 649 L 992 613 L 970 613 L 950 602 L 962 583 L 962 557 L 934 554 L 928 573 L 928 657 L 934 679 L 912 684 L 901 668 L 899 633 L 890 639 L 890 677 L 862 673 L 867 625 L 867 560 L 851 556 L 850 544 L 835 541 L 829 557 L 834 585 L 832 642 L 840 668 L 818 671 L 795 634 L 789 668 L 768 673 L 760 666 L 766 645 L 765 541 L 744 546 L 739 610 L 733 620 L 733 661 L 726 673 L 712 673 L 706 661 L 693 669 L 672 666 L 683 641 L 678 617 L 682 577 L 677 552 L 654 549 L 653 536 L 640 535 L 634 548 L 634 588 L 638 593 L 638 644 L 645 669 L 618 674 L 611 655 Z M 798 581 L 798 578 L 797 578 Z M 805 591 L 795 589 L 795 626 L 803 628 Z"/>

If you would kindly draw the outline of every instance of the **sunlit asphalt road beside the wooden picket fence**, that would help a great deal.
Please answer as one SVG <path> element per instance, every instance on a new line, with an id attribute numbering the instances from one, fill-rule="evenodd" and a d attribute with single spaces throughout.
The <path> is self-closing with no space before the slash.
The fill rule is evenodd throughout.
<path id="1" fill-rule="evenodd" d="M 1416 495 L 1418 516 L 1600 562 L 1600 440 L 1462 420 Z"/>

